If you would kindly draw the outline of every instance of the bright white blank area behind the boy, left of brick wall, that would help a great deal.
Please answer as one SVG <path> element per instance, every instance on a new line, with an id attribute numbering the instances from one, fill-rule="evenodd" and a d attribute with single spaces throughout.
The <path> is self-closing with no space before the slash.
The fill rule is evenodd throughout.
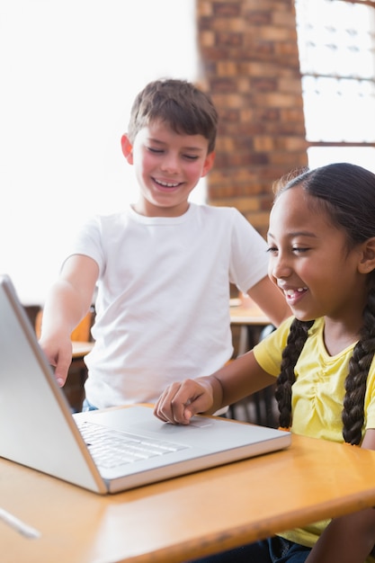
<path id="1" fill-rule="evenodd" d="M 86 216 L 134 199 L 130 105 L 149 80 L 199 78 L 194 18 L 194 0 L 0 0 L 0 273 L 24 303 Z"/>

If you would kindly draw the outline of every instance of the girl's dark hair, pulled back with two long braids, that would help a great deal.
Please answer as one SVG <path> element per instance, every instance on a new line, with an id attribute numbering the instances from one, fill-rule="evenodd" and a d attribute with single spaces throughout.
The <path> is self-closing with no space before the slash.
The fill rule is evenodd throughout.
<path id="1" fill-rule="evenodd" d="M 375 174 L 362 166 L 347 163 L 326 165 L 287 178 L 276 186 L 276 198 L 282 192 L 299 186 L 311 198 L 312 210 L 325 212 L 331 223 L 344 230 L 347 248 L 375 237 Z M 375 353 L 375 273 L 368 275 L 368 299 L 363 309 L 360 339 L 353 349 L 349 372 L 345 379 L 343 409 L 344 441 L 359 444 L 364 424 L 364 397 L 371 361 Z M 282 354 L 281 373 L 276 384 L 276 399 L 281 426 L 291 424 L 291 386 L 294 368 L 314 321 L 294 319 Z"/>

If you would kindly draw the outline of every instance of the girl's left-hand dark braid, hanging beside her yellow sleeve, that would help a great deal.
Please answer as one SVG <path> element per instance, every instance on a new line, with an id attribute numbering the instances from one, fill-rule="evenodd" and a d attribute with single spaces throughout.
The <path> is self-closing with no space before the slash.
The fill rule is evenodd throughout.
<path id="1" fill-rule="evenodd" d="M 276 382 L 275 398 L 280 412 L 280 426 L 291 425 L 291 386 L 296 380 L 294 367 L 308 338 L 308 329 L 314 321 L 302 322 L 297 318 L 290 325 L 287 345 L 282 353 L 281 373 Z"/>

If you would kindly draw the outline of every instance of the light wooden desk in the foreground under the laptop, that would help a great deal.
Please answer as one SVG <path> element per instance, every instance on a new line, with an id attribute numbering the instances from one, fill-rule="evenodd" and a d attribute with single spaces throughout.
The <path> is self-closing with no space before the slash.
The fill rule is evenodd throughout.
<path id="1" fill-rule="evenodd" d="M 0 460 L 4 563 L 177 563 L 375 505 L 375 452 L 293 436 L 289 450 L 115 496 Z"/>

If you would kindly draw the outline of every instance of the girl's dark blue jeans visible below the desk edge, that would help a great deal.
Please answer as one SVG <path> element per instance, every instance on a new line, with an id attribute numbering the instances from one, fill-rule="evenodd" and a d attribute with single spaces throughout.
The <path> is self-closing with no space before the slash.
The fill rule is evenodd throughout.
<path id="1" fill-rule="evenodd" d="M 304 563 L 310 551 L 311 548 L 275 536 L 190 563 Z"/>

